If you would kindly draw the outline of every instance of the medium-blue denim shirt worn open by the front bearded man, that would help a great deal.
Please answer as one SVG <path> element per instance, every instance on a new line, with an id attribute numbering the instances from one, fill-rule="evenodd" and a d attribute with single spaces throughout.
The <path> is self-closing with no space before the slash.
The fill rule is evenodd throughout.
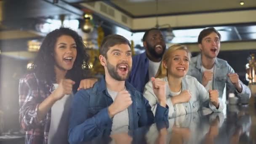
<path id="1" fill-rule="evenodd" d="M 128 107 L 129 130 L 150 125 L 158 121 L 168 121 L 168 107 L 157 106 L 154 115 L 147 99 L 128 82 L 126 90 L 131 94 L 133 103 Z M 78 91 L 73 99 L 69 121 L 69 143 L 79 144 L 98 136 L 109 136 L 112 119 L 108 107 L 113 100 L 107 92 L 106 82 L 102 77 L 93 88 Z"/>

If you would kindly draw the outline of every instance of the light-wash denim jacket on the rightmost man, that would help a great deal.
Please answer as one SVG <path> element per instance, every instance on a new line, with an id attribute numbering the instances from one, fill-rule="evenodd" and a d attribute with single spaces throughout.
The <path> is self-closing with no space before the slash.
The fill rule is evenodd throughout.
<path id="1" fill-rule="evenodd" d="M 195 77 L 200 83 L 202 83 L 202 56 L 199 54 L 191 59 L 189 63 L 189 72 L 188 75 Z M 227 91 L 229 93 L 235 93 L 236 96 L 240 99 L 240 102 L 248 103 L 249 98 L 251 97 L 251 90 L 243 84 L 240 80 L 240 84 L 242 85 L 242 92 L 239 93 L 235 85 L 231 83 L 227 74 L 235 73 L 234 69 L 227 63 L 227 61 L 223 59 L 216 58 L 215 60 L 215 68 L 213 72 L 213 89 L 219 91 L 219 96 L 222 98 L 224 89 L 227 86 Z M 226 95 L 226 93 L 224 93 Z"/>

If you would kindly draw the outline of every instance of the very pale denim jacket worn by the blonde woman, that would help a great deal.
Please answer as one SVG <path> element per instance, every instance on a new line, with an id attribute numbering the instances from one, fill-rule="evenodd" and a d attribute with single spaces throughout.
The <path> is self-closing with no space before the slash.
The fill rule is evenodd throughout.
<path id="1" fill-rule="evenodd" d="M 161 80 L 167 82 L 166 83 L 166 104 L 169 107 L 169 118 L 177 117 L 179 115 L 176 114 L 176 108 L 171 102 L 171 92 L 168 85 L 167 77 L 161 78 Z M 181 91 L 189 90 L 192 93 L 191 99 L 188 102 L 182 103 L 186 113 L 197 112 L 203 107 L 210 108 L 213 112 L 221 112 L 224 109 L 224 104 L 221 100 L 219 100 L 219 109 L 217 109 L 211 101 L 209 101 L 209 93 L 206 89 L 201 85 L 195 77 L 191 77 L 186 75 L 181 80 Z M 149 81 L 144 89 L 145 98 L 149 101 L 150 106 L 152 107 L 152 111 L 155 112 L 157 99 L 152 89 L 152 81 Z"/>

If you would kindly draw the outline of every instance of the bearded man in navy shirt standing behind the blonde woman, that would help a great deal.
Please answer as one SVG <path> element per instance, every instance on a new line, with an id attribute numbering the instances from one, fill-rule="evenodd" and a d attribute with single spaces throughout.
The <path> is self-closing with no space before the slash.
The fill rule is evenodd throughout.
<path id="1" fill-rule="evenodd" d="M 128 82 L 143 93 L 150 77 L 155 77 L 165 52 L 165 40 L 162 32 L 157 28 L 149 29 L 143 38 L 145 52 L 133 56 L 133 68 Z"/>

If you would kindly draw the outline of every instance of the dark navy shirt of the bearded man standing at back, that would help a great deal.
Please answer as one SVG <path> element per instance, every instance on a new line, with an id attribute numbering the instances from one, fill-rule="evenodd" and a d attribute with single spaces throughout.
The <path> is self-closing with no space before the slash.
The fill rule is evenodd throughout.
<path id="1" fill-rule="evenodd" d="M 149 81 L 149 59 L 146 52 L 133 56 L 133 67 L 127 81 L 143 93 L 144 87 Z"/>

